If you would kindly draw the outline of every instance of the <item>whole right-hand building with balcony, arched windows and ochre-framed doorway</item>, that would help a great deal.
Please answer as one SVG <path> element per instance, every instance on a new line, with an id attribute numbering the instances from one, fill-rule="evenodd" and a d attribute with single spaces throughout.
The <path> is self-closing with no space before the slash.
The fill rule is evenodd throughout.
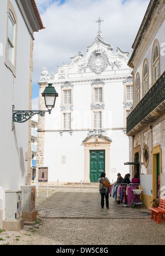
<path id="1" fill-rule="evenodd" d="M 133 43 L 132 175 L 138 173 L 143 200 L 165 198 L 165 3 L 151 0 Z"/>

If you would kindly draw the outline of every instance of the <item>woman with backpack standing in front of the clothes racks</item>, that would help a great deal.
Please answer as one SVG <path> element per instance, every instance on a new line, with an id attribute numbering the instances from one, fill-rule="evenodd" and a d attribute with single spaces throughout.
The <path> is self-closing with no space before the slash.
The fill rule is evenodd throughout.
<path id="1" fill-rule="evenodd" d="M 109 182 L 106 174 L 104 172 L 101 173 L 100 178 L 98 179 L 99 182 L 99 191 L 101 194 L 101 207 L 105 206 L 105 198 L 106 198 L 106 207 L 109 209 L 109 187 L 111 183 Z"/>

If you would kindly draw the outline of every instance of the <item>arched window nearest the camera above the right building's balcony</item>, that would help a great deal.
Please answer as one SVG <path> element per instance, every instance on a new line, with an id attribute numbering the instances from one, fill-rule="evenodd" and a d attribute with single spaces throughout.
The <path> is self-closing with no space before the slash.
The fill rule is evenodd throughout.
<path id="1" fill-rule="evenodd" d="M 152 81 L 153 84 L 160 77 L 160 51 L 158 41 L 156 40 L 153 45 L 152 51 Z"/>

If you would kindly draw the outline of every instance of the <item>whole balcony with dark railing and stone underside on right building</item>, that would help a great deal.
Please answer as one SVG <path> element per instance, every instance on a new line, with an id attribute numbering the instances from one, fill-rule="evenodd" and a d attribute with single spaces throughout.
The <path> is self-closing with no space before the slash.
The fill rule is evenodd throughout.
<path id="1" fill-rule="evenodd" d="M 163 113 L 165 113 L 165 72 L 127 117 L 127 135 L 135 135 Z"/>

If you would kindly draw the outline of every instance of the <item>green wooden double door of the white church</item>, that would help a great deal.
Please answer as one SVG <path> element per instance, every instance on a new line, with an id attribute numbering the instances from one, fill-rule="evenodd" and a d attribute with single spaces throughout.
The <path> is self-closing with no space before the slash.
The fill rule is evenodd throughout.
<path id="1" fill-rule="evenodd" d="M 105 172 L 105 150 L 90 150 L 90 182 L 98 182 Z"/>

